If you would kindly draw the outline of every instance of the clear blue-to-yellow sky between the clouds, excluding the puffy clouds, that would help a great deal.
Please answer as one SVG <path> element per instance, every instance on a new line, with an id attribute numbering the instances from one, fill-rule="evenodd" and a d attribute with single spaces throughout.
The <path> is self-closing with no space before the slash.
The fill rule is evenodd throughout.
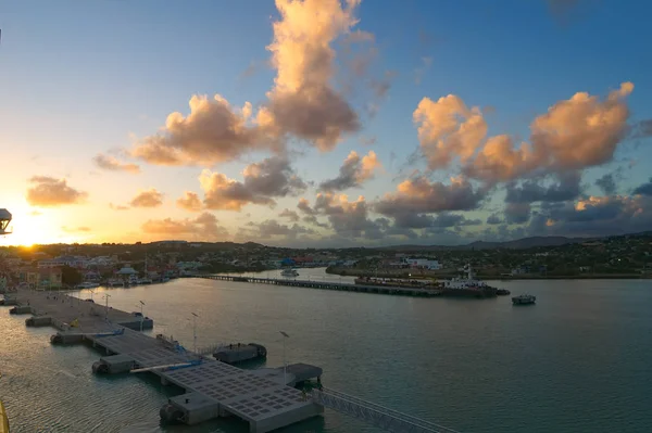
<path id="1" fill-rule="evenodd" d="M 313 10 L 335 8 L 334 2 L 315 2 Z M 551 3 L 565 4 L 565 12 L 560 13 Z M 337 9 L 349 11 L 344 2 Z M 306 7 L 306 11 L 312 10 Z M 327 41 L 335 50 L 333 65 L 337 71 L 328 86 L 359 117 L 359 127 L 342 131 L 333 150 L 319 151 L 311 138 L 290 130 L 283 136 L 281 155 L 255 150 L 259 148 L 252 144 L 251 150 L 228 161 L 162 166 L 130 152 L 160 131 L 168 114 L 188 115 L 193 94 L 221 94 L 233 106 L 249 101 L 254 112 L 272 104 L 266 92 L 275 88 L 278 71 L 269 63 L 272 53 L 266 47 L 275 39 L 273 24 L 284 21 L 274 2 L 0 2 L 0 143 L 5 153 L 0 168 L 5 174 L 7 193 L 7 202 L 0 205 L 14 214 L 13 238 L 2 242 L 185 238 L 373 245 L 463 243 L 527 234 L 610 234 L 647 228 L 640 214 L 649 212 L 648 198 L 634 190 L 648 181 L 650 138 L 625 130 L 652 118 L 652 58 L 647 54 L 652 29 L 645 18 L 651 12 L 652 7 L 643 1 L 626 5 L 609 0 L 362 1 L 350 11 L 351 21 L 356 23 Z M 309 20 L 311 15 L 305 16 Z M 301 24 L 288 21 L 288 25 L 298 28 Z M 356 46 L 353 60 L 376 53 L 361 75 L 350 74 L 346 64 L 347 35 L 356 30 L 372 34 L 374 41 Z M 374 97 L 368 86 L 373 80 L 390 85 L 383 98 Z M 347 89 L 344 82 L 354 85 Z M 622 127 L 617 129 L 617 143 L 600 161 L 574 166 L 581 179 L 575 196 L 527 202 L 528 219 L 523 220 L 522 215 L 517 224 L 513 222 L 515 218 L 503 216 L 507 187 L 518 188 L 529 181 L 543 188 L 568 174 L 567 167 L 562 173 L 559 164 L 551 163 L 490 186 L 487 179 L 471 176 L 474 190 L 482 191 L 481 200 L 471 205 L 434 206 L 446 195 L 437 189 L 430 190 L 425 204 L 415 204 L 414 198 L 392 196 L 401 199 L 392 202 L 404 206 L 401 215 L 463 215 L 468 224 L 461 226 L 434 228 L 424 222 L 414 227 L 399 222 L 397 212 L 377 212 L 385 194 L 399 194 L 397 186 L 404 180 L 423 176 L 450 188 L 449 178 L 463 171 L 461 160 L 437 167 L 428 163 L 424 151 L 427 145 L 419 143 L 413 122 L 413 112 L 424 98 L 437 101 L 456 95 L 468 109 L 477 106 L 481 111 L 488 128 L 485 139 L 510 135 L 517 147 L 521 141 L 530 142 L 532 120 L 557 102 L 576 92 L 588 92 L 604 101 L 623 82 L 632 82 L 634 91 L 622 102 L 628 116 L 617 126 Z M 376 106 L 374 115 L 366 109 L 369 103 Z M 280 117 L 275 122 L 283 123 Z M 373 144 L 362 143 L 371 138 L 375 139 Z M 478 144 L 476 155 L 484 142 Z M 338 175 L 351 151 L 360 157 L 375 152 L 381 167 L 344 190 L 317 191 L 321 182 Z M 93 163 L 98 154 L 137 164 L 140 173 L 102 169 Z M 259 191 L 258 204 L 243 201 L 239 211 L 226 209 L 215 202 L 217 199 L 212 205 L 204 203 L 196 208 L 196 213 L 175 204 L 185 191 L 205 200 L 198 180 L 203 168 L 242 182 L 243 168 L 266 157 L 289 158 L 292 176 L 302 179 L 305 188 Z M 610 174 L 617 180 L 617 188 L 606 194 L 594 181 Z M 35 176 L 58 180 L 54 184 L 59 187 L 64 179 L 86 195 L 62 203 L 29 199 L 27 191 L 38 186 L 29 181 Z M 162 194 L 161 204 L 115 211 L 115 206 L 126 207 L 139 192 L 152 188 Z M 57 193 L 55 189 L 46 190 Z M 304 198 L 315 206 L 318 192 L 330 194 L 330 201 L 313 211 L 316 225 L 303 219 L 309 214 L 297 209 L 297 203 Z M 342 203 L 342 193 L 348 195 L 347 203 L 363 195 L 364 209 L 349 204 L 336 209 L 336 203 Z M 577 203 L 590 196 L 606 199 L 590 204 L 597 215 L 591 219 L 595 227 L 578 230 L 573 221 L 588 215 L 578 216 L 572 209 L 584 209 Z M 550 214 L 551 203 L 556 213 Z M 624 211 L 603 215 L 601 211 L 607 205 L 622 211 L 638 206 L 642 211 L 632 221 L 634 214 Z M 297 212 L 300 219 L 279 217 L 285 208 Z M 196 222 L 203 213 L 215 220 L 208 226 Z M 334 215 L 338 213 L 350 219 L 337 219 Z M 491 214 L 504 224 L 486 225 Z M 170 220 L 162 222 L 165 218 Z M 535 224 L 537 218 L 548 224 Z M 482 224 L 472 224 L 475 220 Z M 161 224 L 143 227 L 147 221 Z M 615 226 L 618 230 L 609 229 Z"/>

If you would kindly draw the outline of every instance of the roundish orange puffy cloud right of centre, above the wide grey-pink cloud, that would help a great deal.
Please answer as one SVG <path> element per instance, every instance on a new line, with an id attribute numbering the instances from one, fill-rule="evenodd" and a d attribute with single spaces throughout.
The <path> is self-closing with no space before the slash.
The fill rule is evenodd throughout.
<path id="1" fill-rule="evenodd" d="M 479 109 L 468 109 L 454 94 L 436 102 L 422 99 L 413 119 L 431 169 L 447 167 L 455 157 L 468 161 L 487 135 L 487 123 Z"/>

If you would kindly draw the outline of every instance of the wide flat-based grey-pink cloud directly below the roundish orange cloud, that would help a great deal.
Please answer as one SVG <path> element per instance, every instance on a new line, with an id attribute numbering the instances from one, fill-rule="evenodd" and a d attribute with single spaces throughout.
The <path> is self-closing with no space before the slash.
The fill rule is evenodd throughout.
<path id="1" fill-rule="evenodd" d="M 478 207 L 485 190 L 474 190 L 464 178 L 452 178 L 450 184 L 430 182 L 417 177 L 401 182 L 396 193 L 387 193 L 376 203 L 376 212 L 386 216 L 404 213 L 438 213 L 442 211 L 471 211 Z"/>

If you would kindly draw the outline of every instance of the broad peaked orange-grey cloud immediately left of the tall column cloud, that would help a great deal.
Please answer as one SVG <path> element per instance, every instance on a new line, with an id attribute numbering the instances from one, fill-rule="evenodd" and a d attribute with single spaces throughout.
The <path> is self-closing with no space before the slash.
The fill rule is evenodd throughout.
<path id="1" fill-rule="evenodd" d="M 146 137 L 131 154 L 158 165 L 212 165 L 231 161 L 254 150 L 278 150 L 278 142 L 264 128 L 248 122 L 251 104 L 231 107 L 216 94 L 193 95 L 190 114 L 167 116 L 165 128 Z"/>

